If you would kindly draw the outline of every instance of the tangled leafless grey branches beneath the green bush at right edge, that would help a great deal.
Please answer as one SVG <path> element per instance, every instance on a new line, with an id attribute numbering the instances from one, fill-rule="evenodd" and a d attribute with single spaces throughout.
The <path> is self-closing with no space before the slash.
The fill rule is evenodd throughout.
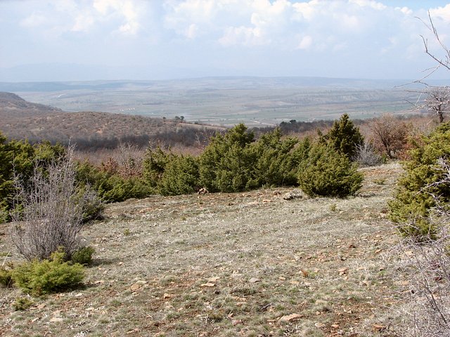
<path id="1" fill-rule="evenodd" d="M 450 186 L 450 165 L 440 158 L 438 169 L 444 176 L 437 185 Z M 427 187 L 425 187 L 427 188 Z M 439 230 L 437 239 L 420 244 L 405 239 L 400 245 L 403 267 L 409 277 L 409 303 L 404 307 L 401 336 L 450 336 L 450 209 L 448 203 L 433 195 L 436 205 L 430 221 Z"/>

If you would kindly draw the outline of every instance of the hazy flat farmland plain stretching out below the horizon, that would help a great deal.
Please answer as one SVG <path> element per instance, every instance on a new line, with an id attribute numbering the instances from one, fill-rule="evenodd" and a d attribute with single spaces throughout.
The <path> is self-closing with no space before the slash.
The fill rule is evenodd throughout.
<path id="1" fill-rule="evenodd" d="M 336 119 L 347 112 L 367 119 L 384 112 L 406 114 L 417 93 L 401 81 L 320 78 L 205 78 L 173 81 L 1 83 L 33 103 L 72 111 L 181 117 L 221 126 L 276 125 L 295 119 Z"/>

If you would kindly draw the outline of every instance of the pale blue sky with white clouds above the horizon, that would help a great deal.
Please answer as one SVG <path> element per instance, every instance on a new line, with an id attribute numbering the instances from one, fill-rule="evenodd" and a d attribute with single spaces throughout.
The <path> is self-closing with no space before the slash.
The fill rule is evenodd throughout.
<path id="1" fill-rule="evenodd" d="M 428 12 L 450 46 L 450 1 L 0 0 L 0 81 L 420 79 Z"/>

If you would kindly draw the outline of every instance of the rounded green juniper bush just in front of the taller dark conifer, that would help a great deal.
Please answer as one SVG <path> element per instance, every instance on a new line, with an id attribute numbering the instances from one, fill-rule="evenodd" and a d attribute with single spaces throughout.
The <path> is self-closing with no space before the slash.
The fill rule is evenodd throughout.
<path id="1" fill-rule="evenodd" d="M 300 164 L 299 185 L 311 197 L 347 197 L 356 194 L 363 181 L 345 154 L 330 145 L 311 147 L 308 158 Z"/>

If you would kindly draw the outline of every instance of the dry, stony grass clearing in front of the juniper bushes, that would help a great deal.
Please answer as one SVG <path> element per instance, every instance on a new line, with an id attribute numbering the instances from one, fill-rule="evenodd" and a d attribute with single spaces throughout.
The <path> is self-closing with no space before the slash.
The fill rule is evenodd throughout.
<path id="1" fill-rule="evenodd" d="M 277 189 L 112 204 L 83 233 L 96 249 L 86 286 L 20 312 L 20 291 L 0 289 L 0 334 L 392 336 L 402 279 L 385 258 L 398 241 L 386 201 L 401 169 L 363 171 L 349 199 Z"/>

